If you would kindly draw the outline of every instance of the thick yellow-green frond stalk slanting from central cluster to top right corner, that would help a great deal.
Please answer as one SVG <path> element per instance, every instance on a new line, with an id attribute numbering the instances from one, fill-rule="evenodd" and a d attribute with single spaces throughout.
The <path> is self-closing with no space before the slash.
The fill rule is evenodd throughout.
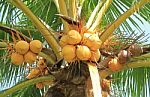
<path id="1" fill-rule="evenodd" d="M 124 14 L 122 14 L 116 21 L 114 21 L 100 36 L 102 42 L 105 42 L 107 38 L 115 31 L 115 29 L 125 21 L 130 15 L 139 10 L 144 4 L 150 2 L 150 0 L 141 0 L 129 8 Z"/>

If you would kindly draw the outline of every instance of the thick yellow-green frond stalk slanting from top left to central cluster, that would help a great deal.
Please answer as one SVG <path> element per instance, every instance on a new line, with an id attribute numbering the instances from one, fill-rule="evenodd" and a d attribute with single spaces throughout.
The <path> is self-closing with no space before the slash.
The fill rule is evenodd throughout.
<path id="1" fill-rule="evenodd" d="M 28 18 L 32 21 L 32 23 L 36 26 L 36 28 L 41 32 L 41 34 L 45 37 L 48 44 L 54 50 L 57 58 L 60 59 L 61 55 L 59 54 L 60 46 L 54 38 L 53 34 L 49 29 L 31 12 L 31 10 L 21 1 L 21 0 L 10 0 L 8 1 L 21 9 Z"/>

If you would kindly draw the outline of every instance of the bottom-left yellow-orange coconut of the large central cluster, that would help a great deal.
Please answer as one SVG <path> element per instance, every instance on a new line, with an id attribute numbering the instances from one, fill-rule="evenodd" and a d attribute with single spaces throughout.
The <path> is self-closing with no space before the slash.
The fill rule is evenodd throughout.
<path id="1" fill-rule="evenodd" d="M 74 61 L 76 57 L 76 47 L 73 45 L 66 45 L 62 48 L 62 55 L 67 62 Z"/>

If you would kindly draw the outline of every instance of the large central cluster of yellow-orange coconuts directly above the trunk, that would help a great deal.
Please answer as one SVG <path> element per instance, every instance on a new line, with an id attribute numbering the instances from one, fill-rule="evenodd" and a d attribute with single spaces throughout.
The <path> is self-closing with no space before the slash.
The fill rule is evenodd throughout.
<path id="1" fill-rule="evenodd" d="M 102 44 L 97 33 L 80 33 L 70 30 L 64 34 L 60 41 L 62 55 L 67 62 L 75 60 L 98 61 L 100 58 L 99 48 Z"/>

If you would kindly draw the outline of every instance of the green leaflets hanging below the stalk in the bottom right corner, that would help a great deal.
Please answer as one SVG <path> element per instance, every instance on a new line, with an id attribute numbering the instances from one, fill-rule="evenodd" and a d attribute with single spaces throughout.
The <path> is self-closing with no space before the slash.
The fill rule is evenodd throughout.
<path id="1" fill-rule="evenodd" d="M 129 69 L 112 75 L 112 95 L 117 97 L 147 97 L 149 68 Z"/>

